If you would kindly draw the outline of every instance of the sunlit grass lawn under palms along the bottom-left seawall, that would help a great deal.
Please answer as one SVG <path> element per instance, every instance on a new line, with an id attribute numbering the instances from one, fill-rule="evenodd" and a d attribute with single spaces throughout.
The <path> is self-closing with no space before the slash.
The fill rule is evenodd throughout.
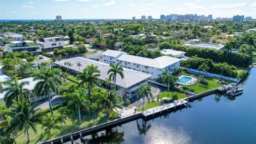
<path id="1" fill-rule="evenodd" d="M 58 114 L 58 110 L 54 110 L 54 115 L 57 115 L 57 114 Z M 110 120 L 113 120 L 113 119 L 105 117 L 104 114 L 102 113 L 99 113 L 97 120 L 94 120 L 91 114 L 89 115 L 82 112 L 82 123 L 79 125 L 78 115 L 74 114 L 73 117 L 67 119 L 66 124 L 62 124 L 61 131 L 52 130 L 51 138 L 59 137 L 60 135 L 63 135 L 63 134 L 75 132 L 77 130 L 80 130 L 86 127 L 91 127 L 94 125 L 106 123 Z M 38 124 L 36 127 L 37 127 L 36 128 L 37 133 L 34 133 L 31 129 L 29 129 L 29 137 L 31 139 L 30 143 L 39 143 L 47 140 L 47 137 L 43 135 L 43 129 L 41 124 Z M 20 133 L 19 135 L 17 135 L 15 140 L 17 141 L 17 143 L 27 143 L 27 136 L 25 133 Z"/>

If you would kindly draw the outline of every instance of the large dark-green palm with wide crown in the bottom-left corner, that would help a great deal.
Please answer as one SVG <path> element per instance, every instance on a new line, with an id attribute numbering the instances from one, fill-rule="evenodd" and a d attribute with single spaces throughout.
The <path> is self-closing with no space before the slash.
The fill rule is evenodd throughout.
<path id="1" fill-rule="evenodd" d="M 28 143 L 30 142 L 28 130 L 31 128 L 34 133 L 37 132 L 36 124 L 41 122 L 43 113 L 38 113 L 40 110 L 37 105 L 31 105 L 29 100 L 14 101 L 7 114 L 12 117 L 10 120 L 10 132 L 15 130 L 26 132 Z"/>

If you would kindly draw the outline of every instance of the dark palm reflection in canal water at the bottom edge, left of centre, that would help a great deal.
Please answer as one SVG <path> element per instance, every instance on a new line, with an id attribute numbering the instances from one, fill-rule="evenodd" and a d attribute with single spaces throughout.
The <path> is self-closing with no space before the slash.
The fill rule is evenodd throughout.
<path id="1" fill-rule="evenodd" d="M 122 143 L 124 132 L 118 129 L 107 129 L 105 132 L 91 134 L 91 138 L 83 138 L 83 143 Z"/>

